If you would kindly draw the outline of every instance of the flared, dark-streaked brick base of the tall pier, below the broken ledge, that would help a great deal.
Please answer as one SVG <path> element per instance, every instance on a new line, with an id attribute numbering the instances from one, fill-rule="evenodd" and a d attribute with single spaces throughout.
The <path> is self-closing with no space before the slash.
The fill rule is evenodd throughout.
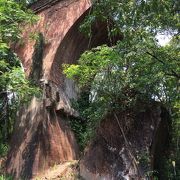
<path id="1" fill-rule="evenodd" d="M 16 122 L 6 170 L 15 179 L 31 179 L 49 167 L 78 159 L 78 146 L 67 116 L 47 103 L 33 99 Z"/>

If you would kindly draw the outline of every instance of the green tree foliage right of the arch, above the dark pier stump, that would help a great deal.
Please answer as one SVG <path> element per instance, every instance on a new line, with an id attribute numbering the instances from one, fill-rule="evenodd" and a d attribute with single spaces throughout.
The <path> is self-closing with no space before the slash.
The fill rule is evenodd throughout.
<path id="1" fill-rule="evenodd" d="M 180 176 L 178 7 L 179 1 L 173 0 L 94 1 L 81 30 L 91 36 L 91 25 L 101 19 L 108 22 L 110 41 L 116 34 L 122 34 L 123 39 L 112 47 L 102 45 L 86 51 L 78 65 L 64 65 L 66 76 L 76 81 L 81 93 L 86 94 L 85 99 L 77 102 L 80 114 L 88 124 L 86 133 L 89 127 L 95 129 L 107 111 L 133 107 L 138 99 L 160 101 L 169 109 L 173 153 L 168 164 L 172 167 L 175 162 L 176 174 L 169 168 L 167 179 Z M 171 35 L 168 45 L 158 43 L 160 34 Z M 162 174 L 158 176 L 164 178 Z"/>

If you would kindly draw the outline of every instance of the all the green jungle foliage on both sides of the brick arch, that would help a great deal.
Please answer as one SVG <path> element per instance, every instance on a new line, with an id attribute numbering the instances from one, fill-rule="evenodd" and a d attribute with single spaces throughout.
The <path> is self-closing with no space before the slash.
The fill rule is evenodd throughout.
<path id="1" fill-rule="evenodd" d="M 37 20 L 26 9 L 32 2 L 0 0 L 0 156 L 8 150 L 18 106 L 39 91 L 25 78 L 20 60 L 11 51 L 21 39 L 22 24 Z M 180 177 L 179 7 L 178 0 L 94 0 L 80 30 L 91 37 L 98 19 L 107 22 L 110 41 L 117 34 L 122 40 L 86 51 L 78 65 L 64 64 L 64 73 L 81 90 L 74 104 L 87 123 L 74 121 L 72 127 L 82 147 L 107 111 L 133 107 L 138 99 L 164 104 L 171 114 L 172 138 L 162 159 L 163 179 Z M 158 43 L 160 34 L 171 36 L 166 46 Z"/>

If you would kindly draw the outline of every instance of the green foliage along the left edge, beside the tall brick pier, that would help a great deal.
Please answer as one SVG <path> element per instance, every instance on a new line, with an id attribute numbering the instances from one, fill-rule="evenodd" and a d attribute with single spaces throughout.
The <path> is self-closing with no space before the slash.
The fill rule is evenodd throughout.
<path id="1" fill-rule="evenodd" d="M 10 48 L 21 38 L 22 25 L 36 19 L 22 4 L 0 0 L 0 156 L 7 152 L 18 107 L 40 92 L 25 78 L 20 60 Z"/>

